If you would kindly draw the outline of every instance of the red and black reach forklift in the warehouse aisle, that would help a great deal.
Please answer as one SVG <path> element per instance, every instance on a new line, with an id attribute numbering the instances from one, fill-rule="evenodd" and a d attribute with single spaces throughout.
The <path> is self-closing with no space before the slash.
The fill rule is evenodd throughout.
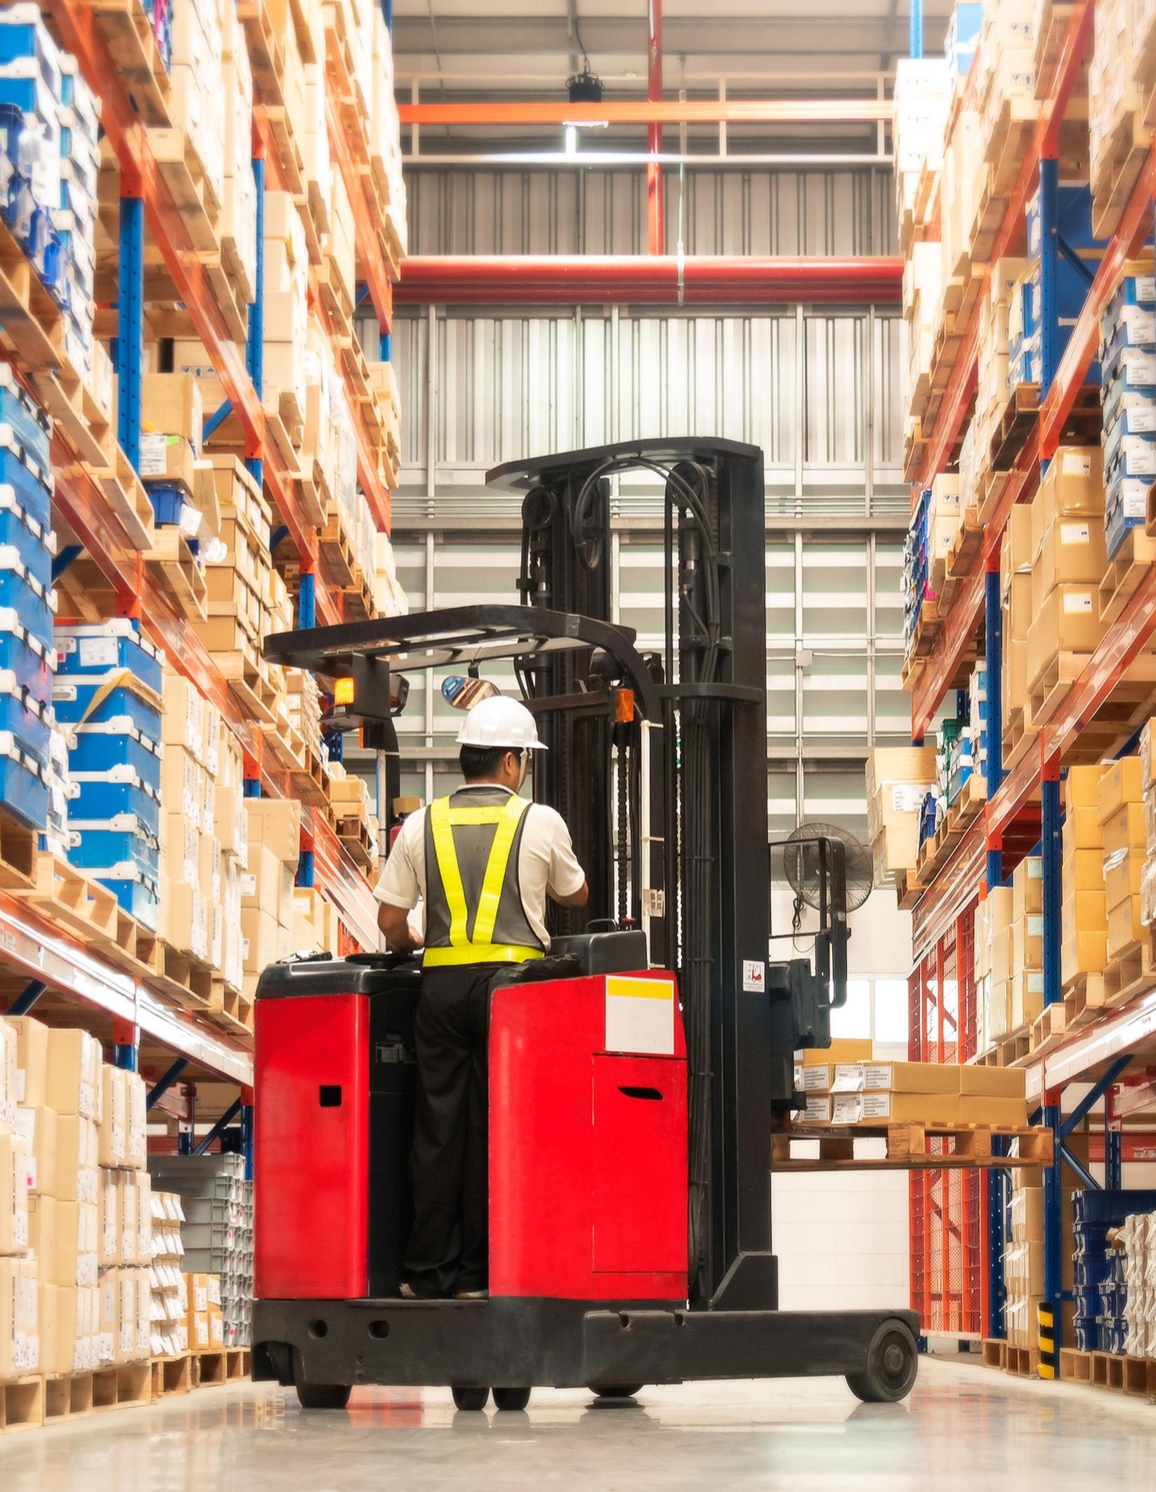
<path id="1" fill-rule="evenodd" d="M 613 619 L 612 483 L 628 471 L 662 492 L 653 649 Z M 488 1300 L 398 1295 L 421 958 L 261 976 L 254 1377 L 306 1407 L 343 1407 L 365 1383 L 522 1408 L 535 1386 L 831 1374 L 864 1401 L 902 1399 L 913 1311 L 779 1310 L 771 1140 L 805 1103 L 795 1053 L 829 1046 L 846 1000 L 847 915 L 844 847 L 816 837 L 813 952 L 792 938 L 776 956 L 762 452 L 626 442 L 488 483 L 522 494 L 510 604 L 283 633 L 264 651 L 342 680 L 336 713 L 383 753 L 382 809 L 400 792 L 406 673 L 512 664 L 549 747 L 534 797 L 570 825 L 594 921 L 552 906 L 549 956 L 495 971 Z"/>

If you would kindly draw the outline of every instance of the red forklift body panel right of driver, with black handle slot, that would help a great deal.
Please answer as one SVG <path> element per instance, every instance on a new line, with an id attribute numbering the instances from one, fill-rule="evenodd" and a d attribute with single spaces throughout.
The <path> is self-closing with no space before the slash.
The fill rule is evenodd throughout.
<path id="1" fill-rule="evenodd" d="M 674 1056 L 607 1053 L 606 1009 L 604 976 L 494 995 L 492 1295 L 686 1300 L 682 1021 Z"/>

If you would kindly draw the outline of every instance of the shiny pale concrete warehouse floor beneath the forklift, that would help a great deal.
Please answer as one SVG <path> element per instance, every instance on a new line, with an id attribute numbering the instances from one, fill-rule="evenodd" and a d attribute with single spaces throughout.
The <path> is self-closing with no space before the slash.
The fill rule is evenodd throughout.
<path id="1" fill-rule="evenodd" d="M 905 1405 L 841 1382 L 713 1383 L 591 1408 L 540 1392 L 525 1414 L 455 1413 L 447 1391 L 358 1391 L 304 1413 L 266 1385 L 0 1435 L 3 1492 L 421 1492 L 565 1488 L 1156 1488 L 1156 1405 L 926 1361 Z"/>

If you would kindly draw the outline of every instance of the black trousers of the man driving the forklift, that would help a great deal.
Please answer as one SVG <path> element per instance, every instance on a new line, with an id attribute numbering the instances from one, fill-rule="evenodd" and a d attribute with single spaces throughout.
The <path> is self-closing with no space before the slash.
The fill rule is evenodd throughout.
<path id="1" fill-rule="evenodd" d="M 434 968 L 418 1000 L 418 1107 L 406 1279 L 418 1295 L 486 1288 L 489 986 L 494 965 Z"/>

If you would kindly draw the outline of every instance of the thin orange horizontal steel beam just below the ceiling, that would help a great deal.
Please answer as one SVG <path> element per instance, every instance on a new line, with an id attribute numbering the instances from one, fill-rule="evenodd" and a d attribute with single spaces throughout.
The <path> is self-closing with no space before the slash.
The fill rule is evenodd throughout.
<path id="1" fill-rule="evenodd" d="M 401 103 L 403 124 L 889 124 L 889 98 L 616 98 Z"/>

